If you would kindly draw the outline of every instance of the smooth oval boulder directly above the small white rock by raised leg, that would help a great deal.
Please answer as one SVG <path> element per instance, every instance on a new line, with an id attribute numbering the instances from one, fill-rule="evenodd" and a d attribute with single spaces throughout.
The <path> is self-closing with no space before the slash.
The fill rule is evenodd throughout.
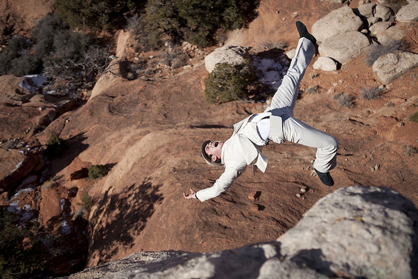
<path id="1" fill-rule="evenodd" d="M 318 51 L 321 56 L 328 56 L 340 63 L 345 63 L 361 54 L 369 45 L 369 39 L 364 34 L 348 31 L 326 39 L 318 47 Z"/>

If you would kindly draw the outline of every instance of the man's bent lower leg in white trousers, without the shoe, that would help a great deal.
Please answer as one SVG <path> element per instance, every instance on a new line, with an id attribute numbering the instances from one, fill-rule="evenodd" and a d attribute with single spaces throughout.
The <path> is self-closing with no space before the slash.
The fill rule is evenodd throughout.
<path id="1" fill-rule="evenodd" d="M 333 136 L 293 117 L 283 121 L 283 133 L 287 141 L 317 148 L 313 165 L 317 171 L 326 173 L 336 166 L 338 142 Z"/>

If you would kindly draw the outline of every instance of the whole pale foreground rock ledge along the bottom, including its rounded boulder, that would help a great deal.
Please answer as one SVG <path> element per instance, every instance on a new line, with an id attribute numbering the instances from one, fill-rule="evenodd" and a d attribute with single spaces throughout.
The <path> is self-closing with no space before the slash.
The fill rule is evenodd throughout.
<path id="1" fill-rule="evenodd" d="M 69 279 L 416 278 L 418 210 L 383 187 L 321 198 L 277 241 L 215 253 L 139 252 Z"/>

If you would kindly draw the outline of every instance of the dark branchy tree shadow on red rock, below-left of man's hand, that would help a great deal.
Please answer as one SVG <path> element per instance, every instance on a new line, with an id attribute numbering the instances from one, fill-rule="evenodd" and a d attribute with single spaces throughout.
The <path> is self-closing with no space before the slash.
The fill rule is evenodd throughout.
<path id="1" fill-rule="evenodd" d="M 130 248 L 135 236 L 145 228 L 153 215 L 155 204 L 162 202 L 161 184 L 153 185 L 145 178 L 139 186 L 132 184 L 122 192 L 110 194 L 108 189 L 98 201 L 91 226 L 101 223 L 92 230 L 90 253 L 98 253 L 99 263 L 109 261 L 118 252 L 116 246 Z"/>

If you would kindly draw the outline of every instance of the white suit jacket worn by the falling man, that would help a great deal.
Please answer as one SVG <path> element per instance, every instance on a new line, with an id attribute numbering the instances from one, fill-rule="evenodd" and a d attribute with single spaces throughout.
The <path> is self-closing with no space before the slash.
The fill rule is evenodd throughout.
<path id="1" fill-rule="evenodd" d="M 212 187 L 196 193 L 196 197 L 201 202 L 217 197 L 231 187 L 235 179 L 250 164 L 253 165 L 253 174 L 257 167 L 261 171 L 265 171 L 268 160 L 261 153 L 265 142 L 258 136 L 256 123 L 249 122 L 252 116 L 250 115 L 234 125 L 234 133 L 222 146 L 221 162 L 224 164 L 225 171 Z"/>

